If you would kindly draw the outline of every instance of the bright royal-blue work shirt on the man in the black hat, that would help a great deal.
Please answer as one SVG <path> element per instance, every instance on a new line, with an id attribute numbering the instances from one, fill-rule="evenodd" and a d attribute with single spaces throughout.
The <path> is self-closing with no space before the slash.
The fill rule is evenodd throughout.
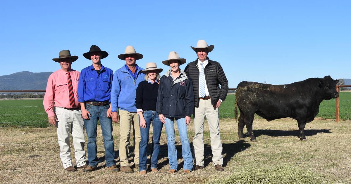
<path id="1" fill-rule="evenodd" d="M 111 102 L 113 71 L 102 65 L 101 67 L 99 75 L 92 65 L 80 72 L 78 83 L 79 102 Z"/>

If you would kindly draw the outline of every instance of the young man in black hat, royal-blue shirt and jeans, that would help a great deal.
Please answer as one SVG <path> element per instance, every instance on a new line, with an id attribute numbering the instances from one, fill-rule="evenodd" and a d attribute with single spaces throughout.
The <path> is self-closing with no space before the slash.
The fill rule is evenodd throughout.
<path id="1" fill-rule="evenodd" d="M 91 66 L 82 69 L 78 83 L 79 102 L 88 137 L 89 164 L 84 172 L 95 170 L 99 163 L 96 146 L 98 120 L 104 138 L 106 168 L 110 171 L 119 171 L 114 161 L 110 106 L 113 71 L 101 64 L 101 59 L 107 57 L 108 53 L 92 45 L 90 51 L 83 56 L 93 62 Z"/>

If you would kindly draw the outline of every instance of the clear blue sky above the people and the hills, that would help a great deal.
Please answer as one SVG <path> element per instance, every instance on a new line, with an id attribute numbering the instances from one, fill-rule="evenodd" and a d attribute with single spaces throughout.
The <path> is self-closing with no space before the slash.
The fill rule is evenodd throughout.
<path id="1" fill-rule="evenodd" d="M 117 55 L 133 45 L 145 67 L 176 51 L 187 62 L 200 39 L 221 63 L 229 87 L 240 81 L 288 84 L 330 75 L 351 78 L 351 1 L 3 1 L 0 75 L 60 68 L 60 50 L 91 65 L 91 45 L 109 53 L 102 64 L 117 70 Z M 185 68 L 184 66 L 180 67 Z"/>

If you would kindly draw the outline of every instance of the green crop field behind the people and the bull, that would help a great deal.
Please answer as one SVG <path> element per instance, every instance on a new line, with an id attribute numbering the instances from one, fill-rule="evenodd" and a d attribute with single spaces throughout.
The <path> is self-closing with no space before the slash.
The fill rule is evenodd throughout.
<path id="1" fill-rule="evenodd" d="M 340 92 L 340 119 L 351 120 L 351 92 Z M 235 94 L 228 94 L 219 108 L 219 118 L 234 118 Z M 336 118 L 336 99 L 324 100 L 317 117 Z M 0 127 L 47 127 L 42 99 L 0 100 Z"/>

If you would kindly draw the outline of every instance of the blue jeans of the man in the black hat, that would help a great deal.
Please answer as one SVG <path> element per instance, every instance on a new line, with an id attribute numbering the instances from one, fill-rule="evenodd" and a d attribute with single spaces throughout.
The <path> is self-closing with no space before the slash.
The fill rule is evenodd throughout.
<path id="1" fill-rule="evenodd" d="M 107 118 L 107 110 L 110 105 L 90 105 L 86 104 L 86 110 L 90 113 L 90 120 L 84 120 L 85 130 L 88 136 L 88 163 L 96 167 L 99 159 L 96 156 L 96 130 L 98 126 L 98 118 L 102 130 L 102 137 L 104 138 L 105 146 L 105 161 L 106 166 L 115 165 L 114 161 L 114 145 L 112 137 L 112 120 Z"/>

